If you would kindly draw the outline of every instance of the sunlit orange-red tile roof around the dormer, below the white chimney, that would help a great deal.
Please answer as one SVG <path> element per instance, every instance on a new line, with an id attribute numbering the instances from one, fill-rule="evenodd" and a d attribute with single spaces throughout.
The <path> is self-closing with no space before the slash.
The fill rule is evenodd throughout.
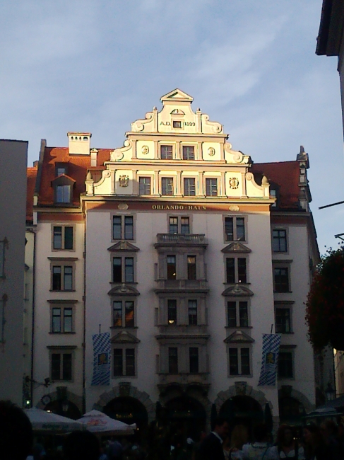
<path id="1" fill-rule="evenodd" d="M 110 159 L 113 149 L 99 149 L 97 165 L 102 166 Z M 68 176 L 76 180 L 73 188 L 73 205 L 79 205 L 80 194 L 85 192 L 87 170 L 90 168 L 90 155 L 69 155 L 68 147 L 45 147 L 42 163 L 42 179 L 40 183 L 39 205 L 54 204 L 54 190 L 52 180 L 55 178 L 55 163 L 68 163 Z"/>

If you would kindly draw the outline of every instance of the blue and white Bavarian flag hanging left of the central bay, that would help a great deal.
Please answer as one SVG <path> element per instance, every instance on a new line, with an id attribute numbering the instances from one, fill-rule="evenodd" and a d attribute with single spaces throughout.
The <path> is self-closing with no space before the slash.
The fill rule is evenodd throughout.
<path id="1" fill-rule="evenodd" d="M 110 333 L 92 335 L 93 379 L 91 385 L 109 385 L 111 369 Z"/>

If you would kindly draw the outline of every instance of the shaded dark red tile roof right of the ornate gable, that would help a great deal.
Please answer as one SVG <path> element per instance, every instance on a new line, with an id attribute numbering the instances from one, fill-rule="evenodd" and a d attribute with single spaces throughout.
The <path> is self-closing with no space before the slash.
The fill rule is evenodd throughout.
<path id="1" fill-rule="evenodd" d="M 275 163 L 254 163 L 252 173 L 260 179 L 263 174 L 270 183 L 279 186 L 279 209 L 299 208 L 299 162 L 276 161 Z"/>

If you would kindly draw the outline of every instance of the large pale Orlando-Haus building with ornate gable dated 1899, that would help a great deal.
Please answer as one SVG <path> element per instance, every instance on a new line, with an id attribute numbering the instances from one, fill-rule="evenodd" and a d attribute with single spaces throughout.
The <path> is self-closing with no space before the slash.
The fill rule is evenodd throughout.
<path id="1" fill-rule="evenodd" d="M 315 403 L 308 155 L 252 165 L 191 96 L 161 100 L 119 149 L 90 149 L 90 133 L 69 133 L 68 149 L 42 144 L 34 379 L 52 384 L 34 404 L 144 427 L 159 402 L 192 435 L 213 404 L 248 424 L 266 403 L 276 422 L 299 422 Z M 263 387 L 271 328 L 283 333 L 280 373 Z M 91 386 L 100 330 L 111 333 L 110 386 Z"/>

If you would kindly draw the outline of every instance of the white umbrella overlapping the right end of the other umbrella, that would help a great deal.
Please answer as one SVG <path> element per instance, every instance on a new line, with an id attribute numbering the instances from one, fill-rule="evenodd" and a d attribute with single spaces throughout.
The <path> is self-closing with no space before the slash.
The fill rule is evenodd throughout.
<path id="1" fill-rule="evenodd" d="M 77 420 L 85 425 L 86 429 L 102 435 L 134 435 L 136 424 L 126 425 L 124 422 L 108 417 L 100 410 L 90 410 Z"/>

